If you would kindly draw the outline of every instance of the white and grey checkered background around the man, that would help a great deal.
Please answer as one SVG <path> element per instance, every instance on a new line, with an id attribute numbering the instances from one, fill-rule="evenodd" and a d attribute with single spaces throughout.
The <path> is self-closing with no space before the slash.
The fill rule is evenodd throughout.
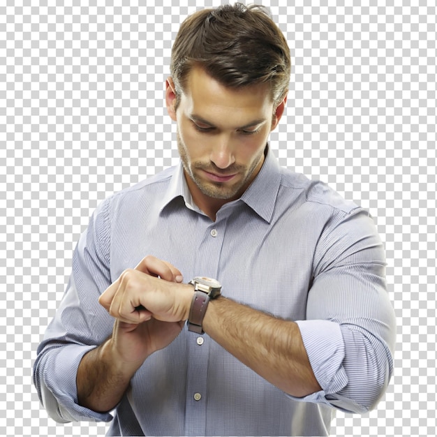
<path id="1" fill-rule="evenodd" d="M 188 14 L 218 3 L 48 3 L 0 1 L 0 434 L 103 436 L 105 424 L 48 419 L 31 366 L 98 202 L 177 163 L 170 47 Z M 332 436 L 435 435 L 434 2 L 279 3 L 264 4 L 293 68 L 272 149 L 369 208 L 398 322 L 385 398 L 364 416 L 338 413 Z"/>

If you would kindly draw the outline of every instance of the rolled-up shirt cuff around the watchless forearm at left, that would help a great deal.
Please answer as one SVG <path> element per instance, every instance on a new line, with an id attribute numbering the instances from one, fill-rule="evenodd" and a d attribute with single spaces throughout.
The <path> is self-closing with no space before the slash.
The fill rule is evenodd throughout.
<path id="1" fill-rule="evenodd" d="M 109 413 L 97 413 L 77 403 L 77 369 L 82 357 L 95 347 L 69 345 L 47 352 L 41 394 L 47 413 L 57 422 L 112 420 Z"/>

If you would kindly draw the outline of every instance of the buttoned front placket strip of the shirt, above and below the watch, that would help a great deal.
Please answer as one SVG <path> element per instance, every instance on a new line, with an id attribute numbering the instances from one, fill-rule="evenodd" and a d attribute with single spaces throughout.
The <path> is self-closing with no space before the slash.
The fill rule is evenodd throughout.
<path id="1" fill-rule="evenodd" d="M 203 228 L 204 237 L 195 263 L 196 276 L 218 278 L 218 263 L 225 233 L 225 220 Z M 187 329 L 187 327 L 185 327 Z M 209 369 L 209 345 L 207 334 L 188 332 L 188 374 L 186 385 L 186 436 L 205 436 L 207 426 L 207 380 Z"/>

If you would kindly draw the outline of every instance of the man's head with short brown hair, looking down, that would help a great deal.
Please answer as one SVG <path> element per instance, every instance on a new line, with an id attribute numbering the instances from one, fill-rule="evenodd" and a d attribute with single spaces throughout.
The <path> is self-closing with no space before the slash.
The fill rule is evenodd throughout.
<path id="1" fill-rule="evenodd" d="M 286 40 L 260 8 L 221 6 L 182 24 L 165 98 L 188 188 L 205 212 L 239 198 L 258 175 L 289 77 Z"/>

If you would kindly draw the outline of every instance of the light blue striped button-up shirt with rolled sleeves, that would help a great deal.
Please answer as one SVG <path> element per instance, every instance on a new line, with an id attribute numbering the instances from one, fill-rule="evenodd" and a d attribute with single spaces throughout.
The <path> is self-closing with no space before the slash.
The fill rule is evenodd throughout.
<path id="1" fill-rule="evenodd" d="M 145 255 L 171 262 L 185 281 L 218 279 L 223 295 L 297 321 L 323 390 L 290 397 L 184 327 L 145 360 L 114 412 L 78 405 L 77 366 L 114 324 L 98 297 Z M 394 336 L 383 244 L 369 214 L 279 167 L 268 151 L 215 222 L 193 205 L 182 165 L 105 200 L 75 249 L 34 382 L 54 420 L 112 420 L 111 436 L 326 436 L 335 408 L 376 406 L 392 375 Z"/>

